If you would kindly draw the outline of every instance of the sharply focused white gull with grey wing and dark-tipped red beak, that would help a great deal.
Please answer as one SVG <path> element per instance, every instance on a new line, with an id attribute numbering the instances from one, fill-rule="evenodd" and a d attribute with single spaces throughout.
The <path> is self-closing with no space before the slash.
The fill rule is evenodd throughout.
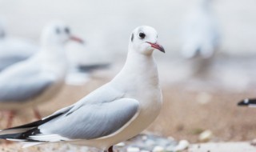
<path id="1" fill-rule="evenodd" d="M 156 30 L 137 27 L 130 36 L 125 66 L 112 81 L 38 122 L 2 130 L 0 138 L 33 145 L 70 142 L 112 151 L 114 144 L 145 130 L 161 110 L 154 49 L 165 52 Z"/>

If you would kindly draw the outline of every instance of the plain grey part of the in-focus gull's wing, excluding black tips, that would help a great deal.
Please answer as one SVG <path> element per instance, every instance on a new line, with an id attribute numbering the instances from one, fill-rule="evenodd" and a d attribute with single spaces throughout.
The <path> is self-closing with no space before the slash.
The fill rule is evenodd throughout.
<path id="1" fill-rule="evenodd" d="M 88 104 L 39 126 L 39 129 L 43 134 L 59 134 L 70 139 L 101 138 L 121 129 L 138 108 L 138 101 L 131 98 Z"/>

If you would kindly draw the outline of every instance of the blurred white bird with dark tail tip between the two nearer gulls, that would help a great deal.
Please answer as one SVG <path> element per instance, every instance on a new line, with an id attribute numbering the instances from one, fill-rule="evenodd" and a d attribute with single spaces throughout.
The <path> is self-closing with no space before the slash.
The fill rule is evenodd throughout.
<path id="1" fill-rule="evenodd" d="M 69 73 L 66 84 L 71 86 L 82 86 L 90 81 L 90 74 L 95 70 L 106 70 L 110 63 L 102 54 L 85 45 L 70 43 L 66 46 L 69 61 Z"/>

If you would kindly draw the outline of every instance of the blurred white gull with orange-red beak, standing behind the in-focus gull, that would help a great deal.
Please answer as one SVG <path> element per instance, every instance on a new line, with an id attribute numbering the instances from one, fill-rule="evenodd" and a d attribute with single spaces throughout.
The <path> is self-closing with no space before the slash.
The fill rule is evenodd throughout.
<path id="1" fill-rule="evenodd" d="M 0 73 L 0 110 L 10 110 L 7 126 L 14 112 L 34 107 L 58 94 L 64 84 L 67 60 L 64 45 L 70 39 L 82 40 L 70 34 L 63 22 L 53 22 L 42 32 L 42 48 L 23 62 Z M 34 114 L 40 118 L 38 110 Z"/>

